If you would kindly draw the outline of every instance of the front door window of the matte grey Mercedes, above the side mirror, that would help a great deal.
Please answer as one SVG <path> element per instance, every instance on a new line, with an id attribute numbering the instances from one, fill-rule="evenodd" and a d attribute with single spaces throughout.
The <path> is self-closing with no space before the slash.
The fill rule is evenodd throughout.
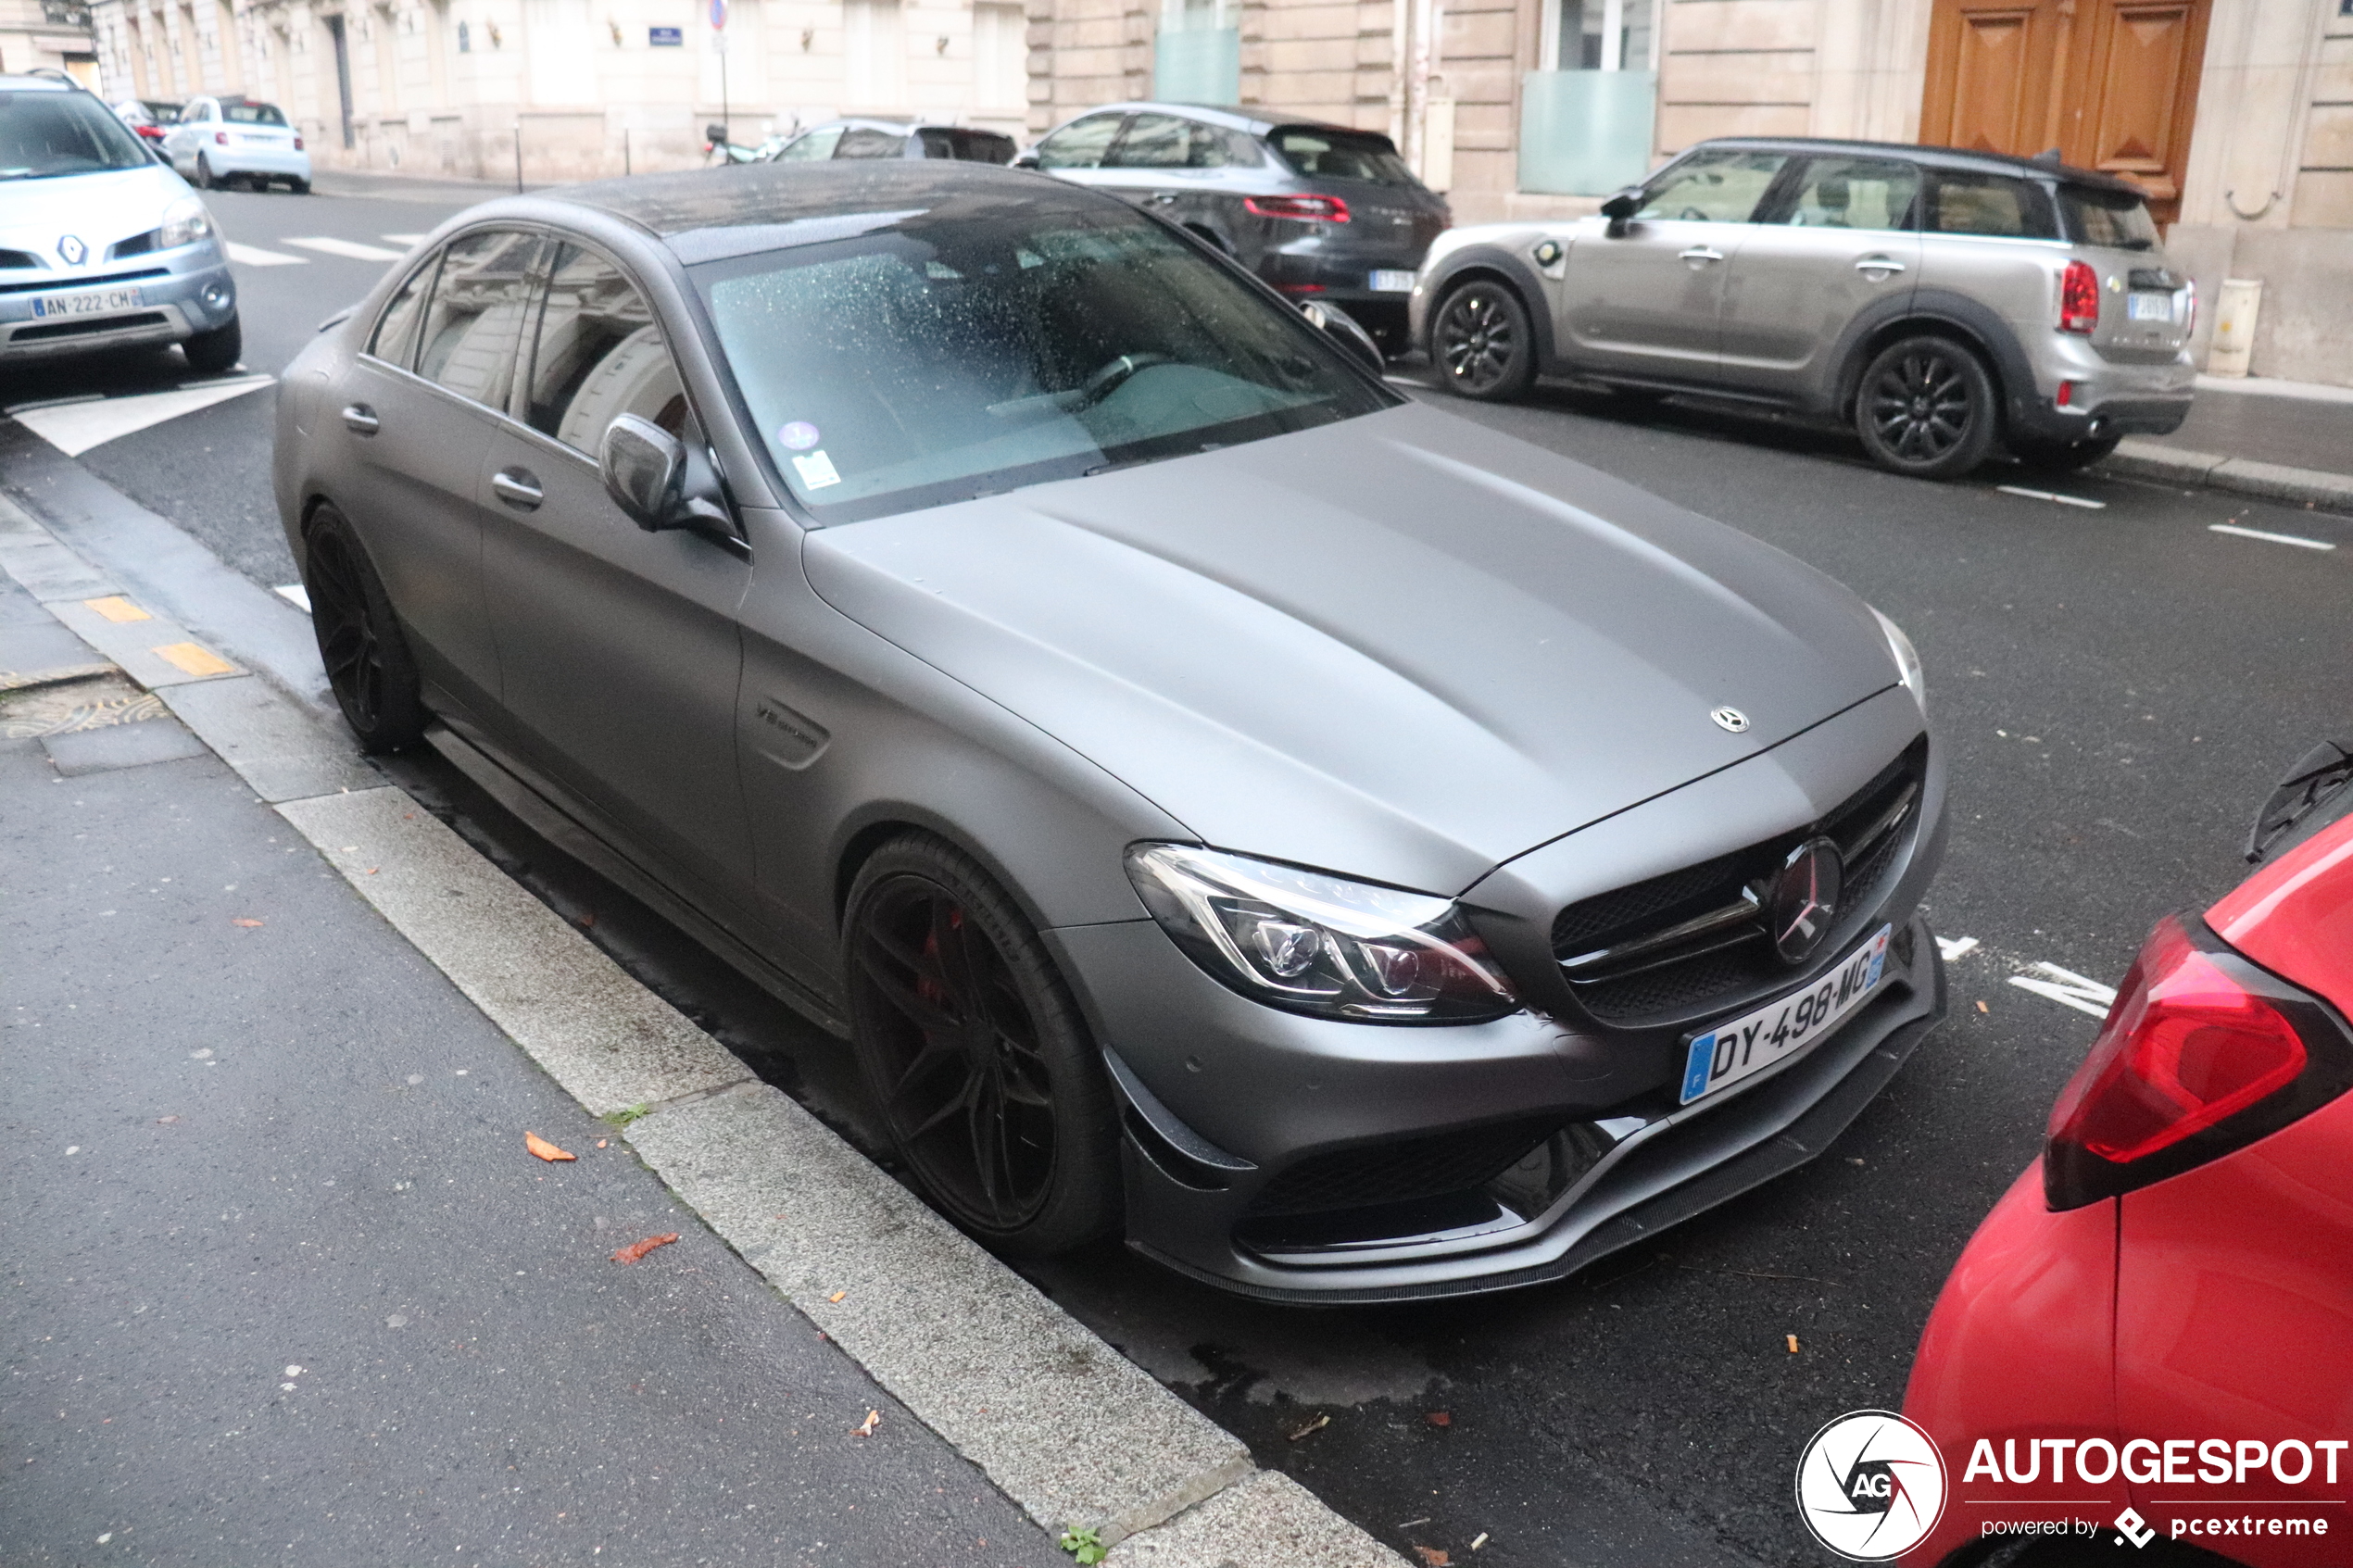
<path id="1" fill-rule="evenodd" d="M 595 456 L 621 414 L 682 435 L 687 393 L 635 284 L 595 252 L 560 244 L 539 313 L 525 418 L 532 430 Z"/>

